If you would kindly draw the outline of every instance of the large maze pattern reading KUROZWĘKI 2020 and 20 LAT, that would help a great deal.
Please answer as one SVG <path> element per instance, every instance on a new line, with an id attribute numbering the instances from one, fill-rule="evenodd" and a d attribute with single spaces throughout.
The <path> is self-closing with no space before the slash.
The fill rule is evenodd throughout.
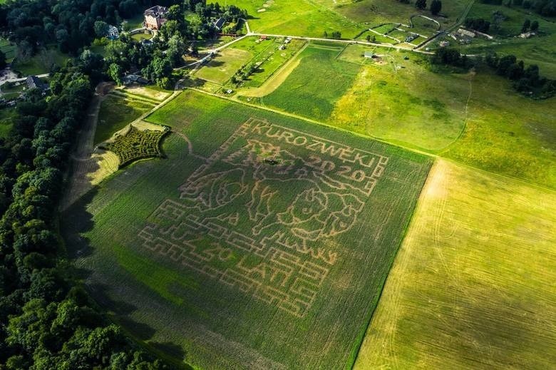
<path id="1" fill-rule="evenodd" d="M 185 181 L 180 199 L 150 215 L 139 237 L 150 252 L 304 317 L 341 258 L 322 241 L 350 230 L 387 163 L 250 119 Z"/>

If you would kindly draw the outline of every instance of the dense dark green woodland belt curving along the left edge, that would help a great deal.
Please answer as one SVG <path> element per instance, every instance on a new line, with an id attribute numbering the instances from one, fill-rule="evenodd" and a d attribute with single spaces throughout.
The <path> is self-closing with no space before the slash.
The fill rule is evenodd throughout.
<path id="1" fill-rule="evenodd" d="M 101 59 L 84 52 L 31 90 L 0 139 L 0 367 L 165 369 L 109 324 L 76 281 L 56 231 L 68 152 Z M 4 367 L 5 366 L 5 367 Z"/>

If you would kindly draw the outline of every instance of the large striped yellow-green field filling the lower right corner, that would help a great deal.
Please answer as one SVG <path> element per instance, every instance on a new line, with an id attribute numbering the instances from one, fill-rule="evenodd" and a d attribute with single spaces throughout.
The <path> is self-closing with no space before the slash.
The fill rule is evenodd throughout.
<path id="1" fill-rule="evenodd" d="M 556 192 L 439 160 L 355 369 L 550 369 Z"/>

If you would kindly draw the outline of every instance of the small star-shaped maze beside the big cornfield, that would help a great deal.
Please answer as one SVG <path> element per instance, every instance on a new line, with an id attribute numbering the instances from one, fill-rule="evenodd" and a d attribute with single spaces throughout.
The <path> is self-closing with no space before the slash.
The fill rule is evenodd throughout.
<path id="1" fill-rule="evenodd" d="M 118 135 L 113 141 L 105 143 L 101 148 L 110 150 L 118 155 L 119 167 L 123 167 L 135 160 L 162 157 L 160 140 L 169 132 L 164 130 L 139 130 L 129 125 L 125 133 Z"/>

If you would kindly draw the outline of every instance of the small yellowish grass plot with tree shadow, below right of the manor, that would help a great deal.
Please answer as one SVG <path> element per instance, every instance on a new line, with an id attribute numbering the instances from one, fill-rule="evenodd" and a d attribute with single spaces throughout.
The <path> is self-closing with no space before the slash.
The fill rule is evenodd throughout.
<path id="1" fill-rule="evenodd" d="M 195 77 L 222 85 L 230 80 L 237 70 L 249 62 L 252 57 L 253 55 L 249 51 L 233 47 L 225 48 L 219 51 L 218 55 L 205 66 L 202 66 L 195 73 Z"/>

